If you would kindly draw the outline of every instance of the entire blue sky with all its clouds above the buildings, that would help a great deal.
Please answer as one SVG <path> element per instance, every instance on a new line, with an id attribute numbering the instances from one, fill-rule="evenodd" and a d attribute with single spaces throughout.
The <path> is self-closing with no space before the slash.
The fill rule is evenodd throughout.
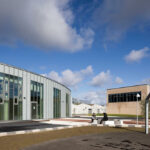
<path id="1" fill-rule="evenodd" d="M 150 84 L 149 0 L 0 0 L 0 62 L 52 78 L 72 97 Z"/>

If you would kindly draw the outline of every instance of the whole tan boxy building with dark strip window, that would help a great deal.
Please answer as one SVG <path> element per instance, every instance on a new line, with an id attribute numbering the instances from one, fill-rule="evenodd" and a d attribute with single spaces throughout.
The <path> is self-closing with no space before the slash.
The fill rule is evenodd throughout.
<path id="1" fill-rule="evenodd" d="M 147 84 L 107 90 L 106 112 L 108 114 L 141 114 L 140 102 L 150 93 Z"/>

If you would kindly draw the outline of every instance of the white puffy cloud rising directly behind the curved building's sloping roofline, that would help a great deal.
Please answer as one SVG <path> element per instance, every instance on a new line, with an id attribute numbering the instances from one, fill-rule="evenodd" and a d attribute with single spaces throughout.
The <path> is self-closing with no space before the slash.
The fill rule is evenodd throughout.
<path id="1" fill-rule="evenodd" d="M 60 75 L 55 71 L 51 71 L 50 73 L 44 75 L 68 87 L 76 87 L 77 84 L 79 84 L 86 76 L 92 73 L 92 66 L 87 66 L 87 68 L 80 71 L 72 71 L 70 69 L 66 69 L 62 71 Z"/>

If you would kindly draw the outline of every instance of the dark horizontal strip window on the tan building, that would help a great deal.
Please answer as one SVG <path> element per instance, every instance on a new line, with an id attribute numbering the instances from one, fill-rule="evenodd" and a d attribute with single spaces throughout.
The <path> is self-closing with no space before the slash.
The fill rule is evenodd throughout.
<path id="1" fill-rule="evenodd" d="M 136 95 L 139 94 L 138 101 L 141 100 L 141 92 L 129 92 L 129 93 L 119 93 L 119 94 L 109 94 L 109 103 L 115 102 L 133 102 L 137 101 Z"/>

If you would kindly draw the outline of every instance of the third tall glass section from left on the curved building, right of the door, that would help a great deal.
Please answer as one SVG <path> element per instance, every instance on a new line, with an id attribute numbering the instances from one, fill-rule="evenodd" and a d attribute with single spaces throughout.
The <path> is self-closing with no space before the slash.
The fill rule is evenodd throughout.
<path id="1" fill-rule="evenodd" d="M 59 89 L 53 89 L 53 117 L 61 117 L 61 91 Z"/>

